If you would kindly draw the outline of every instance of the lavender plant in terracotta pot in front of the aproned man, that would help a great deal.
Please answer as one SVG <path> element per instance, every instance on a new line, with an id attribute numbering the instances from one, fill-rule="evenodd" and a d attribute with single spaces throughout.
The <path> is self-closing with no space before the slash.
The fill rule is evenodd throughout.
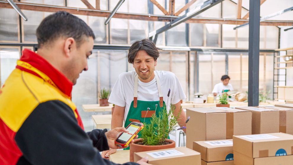
<path id="1" fill-rule="evenodd" d="M 157 110 L 157 104 L 155 107 Z M 140 138 L 135 139 L 134 143 L 130 144 L 130 161 L 134 161 L 133 156 L 135 152 L 175 148 L 175 141 L 168 139 L 168 136 L 174 131 L 174 128 L 177 127 L 177 119 L 179 119 L 182 107 L 177 115 L 173 114 L 174 110 L 174 105 L 171 105 L 170 111 L 167 111 L 166 106 L 163 106 L 159 112 L 159 115 L 156 115 L 155 113 L 152 115 L 152 119 L 149 124 L 144 123 L 144 128 L 140 131 Z M 188 121 L 189 117 L 186 120 L 186 123 Z M 186 127 L 183 126 L 177 130 L 185 128 Z"/>

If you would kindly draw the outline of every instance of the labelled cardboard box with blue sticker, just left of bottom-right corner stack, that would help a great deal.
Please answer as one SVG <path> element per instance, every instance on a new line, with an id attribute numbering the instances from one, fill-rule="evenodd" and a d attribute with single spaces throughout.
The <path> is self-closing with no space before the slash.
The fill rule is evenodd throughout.
<path id="1" fill-rule="evenodd" d="M 233 160 L 233 140 L 209 140 L 193 142 L 193 150 L 200 152 L 204 161 Z"/>

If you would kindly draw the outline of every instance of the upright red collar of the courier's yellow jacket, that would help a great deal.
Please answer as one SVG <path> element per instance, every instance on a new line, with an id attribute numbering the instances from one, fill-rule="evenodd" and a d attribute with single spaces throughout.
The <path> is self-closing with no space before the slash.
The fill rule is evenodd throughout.
<path id="1" fill-rule="evenodd" d="M 64 94 L 71 98 L 73 83 L 68 80 L 68 78 L 65 77 L 65 75 L 63 75 L 59 70 L 54 68 L 46 59 L 36 54 L 35 52 L 30 51 L 29 49 L 24 49 L 22 51 L 22 56 L 20 57 L 20 60 L 29 63 L 36 69 L 46 74 L 55 83 L 59 90 L 61 90 Z M 16 68 L 41 77 L 37 73 L 18 65 Z"/>

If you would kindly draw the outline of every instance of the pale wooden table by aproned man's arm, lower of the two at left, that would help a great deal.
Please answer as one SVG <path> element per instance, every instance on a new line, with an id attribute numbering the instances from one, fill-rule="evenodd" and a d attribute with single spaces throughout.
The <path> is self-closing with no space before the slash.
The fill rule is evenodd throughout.
<path id="1" fill-rule="evenodd" d="M 97 129 L 111 129 L 112 115 L 92 115 Z"/>

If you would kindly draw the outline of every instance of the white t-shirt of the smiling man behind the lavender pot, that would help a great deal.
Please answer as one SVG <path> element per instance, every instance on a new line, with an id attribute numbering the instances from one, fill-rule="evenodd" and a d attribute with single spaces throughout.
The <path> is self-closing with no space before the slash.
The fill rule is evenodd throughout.
<path id="1" fill-rule="evenodd" d="M 159 76 L 167 110 L 170 110 L 170 104 L 176 104 L 186 98 L 184 91 L 174 73 L 168 71 L 154 71 Z M 125 106 L 124 123 L 133 101 L 135 71 L 121 73 L 110 94 L 109 103 Z M 170 96 L 167 97 L 170 88 Z M 168 100 L 167 100 L 168 99 Z M 149 83 L 143 83 L 138 80 L 137 100 L 140 101 L 160 101 L 156 77 Z M 169 104 L 169 105 L 168 105 Z"/>

